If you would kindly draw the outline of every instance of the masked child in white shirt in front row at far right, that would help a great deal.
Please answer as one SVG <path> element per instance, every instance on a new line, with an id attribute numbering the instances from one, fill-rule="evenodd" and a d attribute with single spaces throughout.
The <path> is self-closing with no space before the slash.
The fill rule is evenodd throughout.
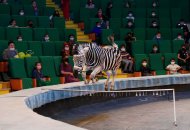
<path id="1" fill-rule="evenodd" d="M 166 70 L 169 71 L 170 74 L 178 74 L 178 70 L 180 70 L 181 67 L 175 63 L 175 59 L 171 59 L 171 64 L 169 64 L 166 67 Z"/>

